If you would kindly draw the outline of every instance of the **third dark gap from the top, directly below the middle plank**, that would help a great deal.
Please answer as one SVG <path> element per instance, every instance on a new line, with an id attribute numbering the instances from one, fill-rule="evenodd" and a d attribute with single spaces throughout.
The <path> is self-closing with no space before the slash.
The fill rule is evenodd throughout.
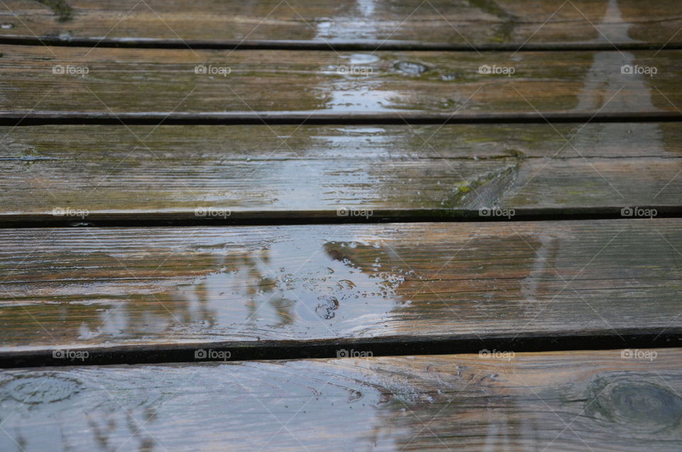
<path id="1" fill-rule="evenodd" d="M 495 206 L 489 206 L 494 208 Z M 623 212 L 624 208 L 632 210 Z M 642 210 L 636 211 L 634 208 Z M 77 207 L 70 207 L 77 210 Z M 656 218 L 681 218 L 682 205 L 627 205 L 595 208 L 519 208 L 512 213 L 509 207 L 481 212 L 479 209 L 415 209 L 369 210 L 362 207 L 345 209 L 347 215 L 336 210 L 324 211 L 261 211 L 229 212 L 221 208 L 203 208 L 195 212 L 135 212 L 89 213 L 83 217 L 35 215 L 0 215 L 0 230 L 36 227 L 197 227 L 197 226 L 283 226 L 283 225 L 343 225 L 410 222 L 521 222 L 521 221 L 578 221 L 578 220 L 647 220 L 643 210 L 656 210 Z M 363 212 L 364 210 L 364 212 Z M 213 215 L 212 212 L 215 212 Z M 628 215 L 632 212 L 632 215 Z M 75 215 L 77 212 L 75 212 Z M 511 214 L 511 215 L 510 215 Z"/>

